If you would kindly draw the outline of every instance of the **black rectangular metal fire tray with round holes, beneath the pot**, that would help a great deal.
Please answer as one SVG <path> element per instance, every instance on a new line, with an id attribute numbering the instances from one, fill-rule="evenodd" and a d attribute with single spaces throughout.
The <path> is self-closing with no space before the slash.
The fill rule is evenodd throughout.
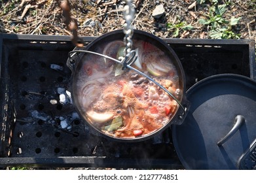
<path id="1" fill-rule="evenodd" d="M 81 121 L 69 98 L 69 39 L 1 35 L 0 165 L 183 168 L 170 129 L 124 143 L 103 139 Z M 87 44 L 93 39 L 84 37 Z M 256 76 L 253 41 L 165 41 L 183 63 L 187 88 L 219 73 Z"/>

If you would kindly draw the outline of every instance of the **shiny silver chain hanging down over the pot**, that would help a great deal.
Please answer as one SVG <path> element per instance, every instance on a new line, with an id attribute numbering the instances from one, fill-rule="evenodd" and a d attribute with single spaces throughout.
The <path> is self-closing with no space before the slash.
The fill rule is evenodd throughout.
<path id="1" fill-rule="evenodd" d="M 124 24 L 124 44 L 125 55 L 129 54 L 132 51 L 132 36 L 134 35 L 134 29 L 132 28 L 132 21 L 134 20 L 135 10 L 132 7 L 132 0 L 125 0 L 126 6 L 124 7 L 124 20 L 126 23 Z"/>

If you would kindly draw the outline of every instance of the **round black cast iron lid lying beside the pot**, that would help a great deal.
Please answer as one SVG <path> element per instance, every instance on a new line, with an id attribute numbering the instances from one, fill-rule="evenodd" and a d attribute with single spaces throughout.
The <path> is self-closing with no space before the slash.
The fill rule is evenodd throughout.
<path id="1" fill-rule="evenodd" d="M 185 169 L 253 169 L 256 156 L 245 155 L 256 139 L 256 82 L 240 75 L 210 76 L 192 86 L 187 99 L 187 117 L 172 126 Z"/>

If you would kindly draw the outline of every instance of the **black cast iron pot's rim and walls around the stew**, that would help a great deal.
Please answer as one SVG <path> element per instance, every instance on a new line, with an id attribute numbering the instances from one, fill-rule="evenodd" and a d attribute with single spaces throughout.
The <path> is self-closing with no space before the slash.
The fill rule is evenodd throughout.
<path id="1" fill-rule="evenodd" d="M 75 48 L 74 50 L 88 50 L 91 52 L 96 52 L 98 46 L 101 45 L 102 42 L 109 42 L 109 41 L 123 41 L 124 39 L 124 33 L 122 30 L 117 30 L 117 31 L 112 31 L 109 33 L 106 33 L 102 35 L 101 37 L 98 37 L 94 41 L 90 42 L 88 46 L 84 48 Z M 175 54 L 174 50 L 168 46 L 168 44 L 162 39 L 159 39 L 155 35 L 152 35 L 150 33 L 147 33 L 145 31 L 139 31 L 139 30 L 134 30 L 134 35 L 132 39 L 136 40 L 141 40 L 141 41 L 147 41 L 150 42 L 151 44 L 155 45 L 157 48 L 162 50 L 164 53 L 166 53 L 169 57 L 172 63 L 175 65 L 177 69 L 177 75 L 179 76 L 179 86 L 181 89 L 181 97 L 180 97 L 180 102 L 182 104 L 182 107 L 178 107 L 178 110 L 175 112 L 175 115 L 170 118 L 170 122 L 168 122 L 166 125 L 158 129 L 157 131 L 150 133 L 149 135 L 141 135 L 136 138 L 120 138 L 120 137 L 113 137 L 111 135 L 106 135 L 105 133 L 102 133 L 99 129 L 94 127 L 91 123 L 87 122 L 88 120 L 86 119 L 86 115 L 84 115 L 84 112 L 82 112 L 81 106 L 79 105 L 79 99 L 76 95 L 78 89 L 77 89 L 77 80 L 79 80 L 79 70 L 82 67 L 82 58 L 86 56 L 87 53 L 77 53 L 77 54 L 72 54 L 71 57 L 67 59 L 67 66 L 69 69 L 72 71 L 72 88 L 71 88 L 71 95 L 73 99 L 73 103 L 77 109 L 77 112 L 81 116 L 81 119 L 90 127 L 92 127 L 93 130 L 96 132 L 98 131 L 100 135 L 103 137 L 106 137 L 108 139 L 113 139 L 116 141 L 122 141 L 122 142 L 137 142 L 137 141 L 143 141 L 149 138 L 152 138 L 156 134 L 164 131 L 167 127 L 170 127 L 170 124 L 181 124 L 183 122 L 183 118 L 185 118 L 185 110 L 187 109 L 189 103 L 185 99 L 185 95 L 183 95 L 183 91 L 185 91 L 185 73 L 183 71 L 183 67 L 181 65 L 181 62 L 179 61 L 179 58 Z M 184 106 L 183 106 L 184 105 Z"/>

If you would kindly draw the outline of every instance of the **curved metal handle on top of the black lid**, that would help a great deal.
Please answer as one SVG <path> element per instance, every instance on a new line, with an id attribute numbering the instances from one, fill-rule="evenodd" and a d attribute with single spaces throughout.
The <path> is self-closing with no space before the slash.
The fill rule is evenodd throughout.
<path id="1" fill-rule="evenodd" d="M 225 137 L 223 137 L 223 139 L 221 139 L 219 142 L 217 142 L 217 145 L 222 146 L 225 142 L 227 142 L 230 139 L 230 137 L 232 137 L 234 135 L 234 133 L 236 133 L 236 131 L 238 131 L 240 126 L 242 124 L 244 124 L 244 122 L 246 122 L 246 119 L 244 118 L 244 116 L 242 116 L 242 115 L 236 116 L 236 118 L 234 119 L 234 126 L 229 131 L 229 133 L 227 133 L 227 135 Z"/>

